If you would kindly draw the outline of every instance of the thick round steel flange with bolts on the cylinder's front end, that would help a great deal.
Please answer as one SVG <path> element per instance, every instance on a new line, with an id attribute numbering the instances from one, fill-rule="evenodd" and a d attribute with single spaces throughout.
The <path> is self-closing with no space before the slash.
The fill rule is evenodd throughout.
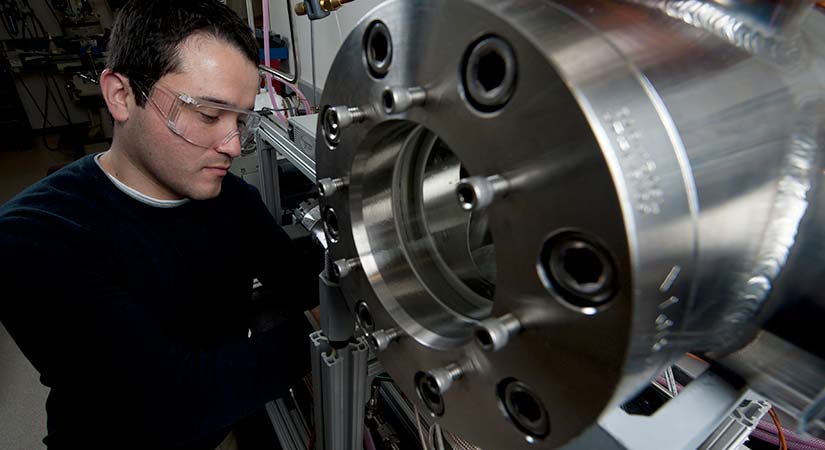
<path id="1" fill-rule="evenodd" d="M 633 178 L 680 166 L 626 60 L 563 9 L 511 3 L 389 1 L 368 14 L 322 100 L 365 118 L 336 128 L 334 149 L 319 131 L 317 170 L 348 180 L 321 199 L 335 213 L 330 253 L 359 260 L 341 280 L 352 310 L 363 301 L 375 330 L 403 334 L 379 358 L 407 397 L 484 447 L 556 447 L 667 359 L 659 305 L 686 294 L 662 280 L 690 270 L 679 258 L 692 255 L 691 231 L 677 223 L 690 213 L 679 186 L 660 201 Z M 392 36 L 380 76 L 365 44 L 376 23 Z M 607 79 L 588 77 L 571 42 L 599 55 Z M 492 69 L 474 74 L 469 63 Z M 396 87 L 421 88 L 426 102 L 393 114 L 386 93 Z M 652 125 L 615 131 L 633 123 Z M 619 150 L 631 137 L 631 151 L 646 149 L 641 162 Z M 457 188 L 470 177 L 497 180 L 487 207 L 462 206 Z M 643 237 L 661 223 L 684 231 L 687 250 L 677 244 L 654 265 Z M 683 304 L 668 306 L 668 323 Z M 479 322 L 508 313 L 520 333 L 483 351 Z M 450 364 L 463 372 L 444 392 L 422 375 Z"/>

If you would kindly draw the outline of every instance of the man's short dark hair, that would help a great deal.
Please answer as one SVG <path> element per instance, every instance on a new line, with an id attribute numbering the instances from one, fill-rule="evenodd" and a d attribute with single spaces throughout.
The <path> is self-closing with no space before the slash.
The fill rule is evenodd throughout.
<path id="1" fill-rule="evenodd" d="M 235 46 L 258 65 L 258 44 L 252 30 L 234 11 L 216 0 L 130 0 L 112 29 L 106 66 L 151 91 L 162 76 L 179 69 L 183 41 L 204 34 Z M 148 93 L 148 91 L 147 91 Z M 143 96 L 136 96 L 139 106 Z"/>

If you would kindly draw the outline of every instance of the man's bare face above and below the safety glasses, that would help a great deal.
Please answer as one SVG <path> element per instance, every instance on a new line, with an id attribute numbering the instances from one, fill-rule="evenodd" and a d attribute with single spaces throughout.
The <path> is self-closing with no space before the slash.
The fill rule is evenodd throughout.
<path id="1" fill-rule="evenodd" d="M 195 99 L 242 109 L 254 107 L 259 87 L 257 67 L 232 45 L 196 35 L 182 43 L 179 58 L 179 72 L 164 75 L 160 84 Z M 127 126 L 135 163 L 167 198 L 216 197 L 232 159 L 241 153 L 237 136 L 209 148 L 187 142 L 167 127 L 148 102 L 144 108 L 134 108 Z"/>

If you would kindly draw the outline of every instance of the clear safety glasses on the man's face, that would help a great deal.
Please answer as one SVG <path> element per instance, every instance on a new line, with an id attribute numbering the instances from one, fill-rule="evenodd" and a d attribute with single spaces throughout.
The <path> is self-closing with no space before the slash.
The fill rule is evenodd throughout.
<path id="1" fill-rule="evenodd" d="M 261 124 L 261 116 L 254 111 L 193 98 L 161 83 L 155 83 L 151 93 L 136 84 L 169 130 L 198 147 L 217 148 L 238 136 L 243 148 Z"/>

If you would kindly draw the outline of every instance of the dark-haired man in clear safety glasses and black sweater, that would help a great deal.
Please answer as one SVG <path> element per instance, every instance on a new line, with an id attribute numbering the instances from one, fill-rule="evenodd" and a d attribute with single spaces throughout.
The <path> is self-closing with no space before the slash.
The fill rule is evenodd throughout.
<path id="1" fill-rule="evenodd" d="M 316 274 L 227 172 L 257 58 L 217 1 L 133 0 L 100 77 L 111 148 L 0 208 L 0 319 L 51 388 L 49 448 L 211 450 L 307 373 Z M 254 278 L 289 320 L 250 330 Z"/>

